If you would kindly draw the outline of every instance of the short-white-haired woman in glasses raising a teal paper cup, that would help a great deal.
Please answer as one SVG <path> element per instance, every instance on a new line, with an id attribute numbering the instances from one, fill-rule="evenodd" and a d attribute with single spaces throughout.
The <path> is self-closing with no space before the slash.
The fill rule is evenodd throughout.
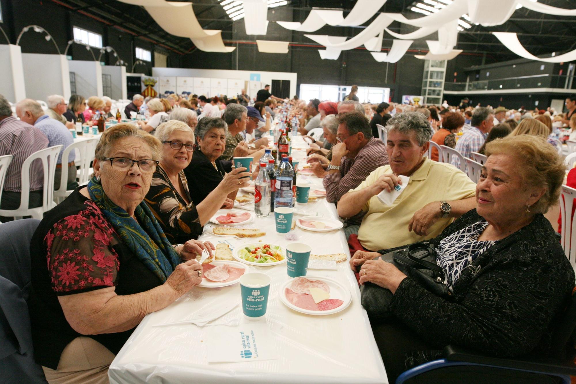
<path id="1" fill-rule="evenodd" d="M 196 149 L 194 131 L 186 123 L 169 120 L 156 129 L 164 156 L 152 176 L 150 190 L 144 199 L 158 224 L 172 244 L 185 243 L 202 235 L 202 227 L 224 204 L 229 193 L 236 190 L 245 168 L 231 172 L 198 205 L 190 197 L 184 168 L 192 161 Z"/>

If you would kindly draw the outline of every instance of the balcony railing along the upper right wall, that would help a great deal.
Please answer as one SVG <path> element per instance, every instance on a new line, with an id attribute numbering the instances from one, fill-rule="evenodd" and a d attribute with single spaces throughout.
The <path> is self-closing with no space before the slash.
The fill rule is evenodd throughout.
<path id="1" fill-rule="evenodd" d="M 576 81 L 569 85 L 567 76 L 540 74 L 533 76 L 506 77 L 498 79 L 471 81 L 471 82 L 446 82 L 444 91 L 495 91 L 498 89 L 522 89 L 522 88 L 563 88 L 576 89 Z"/>

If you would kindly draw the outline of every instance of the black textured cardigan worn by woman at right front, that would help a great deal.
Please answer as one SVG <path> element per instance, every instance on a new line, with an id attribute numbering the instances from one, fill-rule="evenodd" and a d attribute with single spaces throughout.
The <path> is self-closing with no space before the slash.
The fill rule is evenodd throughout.
<path id="1" fill-rule="evenodd" d="M 437 247 L 446 236 L 479 220 L 473 209 L 429 242 Z M 495 356 L 547 353 L 555 319 L 573 288 L 574 270 L 554 229 L 537 214 L 464 269 L 454 285 L 454 302 L 405 278 L 391 311 L 438 348 L 455 344 Z"/>

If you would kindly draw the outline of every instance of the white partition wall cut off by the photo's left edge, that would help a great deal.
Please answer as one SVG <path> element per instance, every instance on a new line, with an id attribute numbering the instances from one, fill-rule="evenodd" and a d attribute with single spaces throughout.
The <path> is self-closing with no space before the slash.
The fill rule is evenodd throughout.
<path id="1" fill-rule="evenodd" d="M 0 45 L 0 95 L 17 103 L 26 98 L 24 71 L 22 71 L 22 51 L 12 44 Z"/>

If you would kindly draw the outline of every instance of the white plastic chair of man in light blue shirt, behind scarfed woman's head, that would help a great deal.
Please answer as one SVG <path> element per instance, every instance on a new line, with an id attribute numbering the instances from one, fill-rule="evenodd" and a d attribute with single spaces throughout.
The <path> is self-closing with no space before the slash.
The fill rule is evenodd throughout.
<path id="1" fill-rule="evenodd" d="M 78 185 L 83 185 L 88 183 L 90 178 L 90 161 L 94 160 L 94 152 L 96 152 L 96 144 L 98 144 L 98 139 L 92 138 L 89 140 L 82 140 L 78 142 L 74 142 L 66 147 L 64 152 L 62 153 L 62 164 L 67 163 L 68 156 L 70 152 L 78 149 L 80 153 L 80 159 L 75 159 L 74 162 L 76 165 L 80 166 L 80 169 L 77 172 L 78 177 Z M 66 190 L 66 186 L 68 184 L 68 167 L 62 166 L 62 176 L 60 177 L 60 186 L 58 190 L 54 191 L 54 201 L 56 204 L 62 202 L 66 197 L 68 197 L 73 190 Z"/>

